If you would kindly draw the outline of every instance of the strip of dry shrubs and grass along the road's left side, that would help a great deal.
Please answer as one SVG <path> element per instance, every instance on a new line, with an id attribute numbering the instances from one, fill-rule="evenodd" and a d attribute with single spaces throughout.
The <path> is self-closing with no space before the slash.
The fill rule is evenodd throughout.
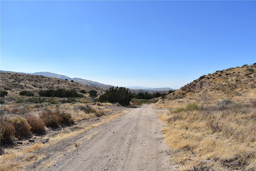
<path id="1" fill-rule="evenodd" d="M 32 136 L 33 133 L 42 134 L 46 127 L 57 128 L 69 126 L 75 121 L 100 117 L 110 111 L 101 105 L 109 103 L 97 102 L 91 105 L 84 103 L 11 103 L 1 105 L 0 132 L 1 146 L 16 140 Z M 95 105 L 93 105 L 95 104 Z"/>

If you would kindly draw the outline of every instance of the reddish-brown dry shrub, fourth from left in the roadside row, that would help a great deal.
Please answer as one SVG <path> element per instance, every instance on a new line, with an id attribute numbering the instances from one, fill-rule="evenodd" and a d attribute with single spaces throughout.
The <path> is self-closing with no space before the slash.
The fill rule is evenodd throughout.
<path id="1" fill-rule="evenodd" d="M 39 116 L 40 116 L 40 119 L 44 121 L 47 127 L 59 126 L 59 122 L 61 118 L 55 112 L 48 110 L 48 111 L 42 112 Z"/>

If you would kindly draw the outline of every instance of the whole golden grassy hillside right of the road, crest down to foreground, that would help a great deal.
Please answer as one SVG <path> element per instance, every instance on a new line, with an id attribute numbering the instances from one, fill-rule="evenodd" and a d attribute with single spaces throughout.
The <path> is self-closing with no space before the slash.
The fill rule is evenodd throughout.
<path id="1" fill-rule="evenodd" d="M 169 109 L 158 117 L 177 165 L 256 170 L 255 70 L 256 64 L 203 75 L 156 103 Z"/>

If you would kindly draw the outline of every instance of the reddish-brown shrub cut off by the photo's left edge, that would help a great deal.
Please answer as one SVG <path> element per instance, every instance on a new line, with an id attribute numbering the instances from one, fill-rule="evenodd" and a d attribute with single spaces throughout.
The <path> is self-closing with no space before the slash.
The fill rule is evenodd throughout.
<path id="1" fill-rule="evenodd" d="M 0 140 L 2 143 L 11 140 L 12 136 L 15 134 L 15 127 L 4 120 L 0 122 Z"/>

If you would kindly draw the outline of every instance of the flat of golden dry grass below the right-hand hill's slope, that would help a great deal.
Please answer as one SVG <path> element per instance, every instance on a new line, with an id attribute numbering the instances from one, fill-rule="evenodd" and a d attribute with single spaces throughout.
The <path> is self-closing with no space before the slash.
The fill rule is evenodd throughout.
<path id="1" fill-rule="evenodd" d="M 179 165 L 205 170 L 256 169 L 256 99 L 215 105 L 187 104 L 158 117 Z M 207 167 L 206 167 L 207 166 Z"/>

